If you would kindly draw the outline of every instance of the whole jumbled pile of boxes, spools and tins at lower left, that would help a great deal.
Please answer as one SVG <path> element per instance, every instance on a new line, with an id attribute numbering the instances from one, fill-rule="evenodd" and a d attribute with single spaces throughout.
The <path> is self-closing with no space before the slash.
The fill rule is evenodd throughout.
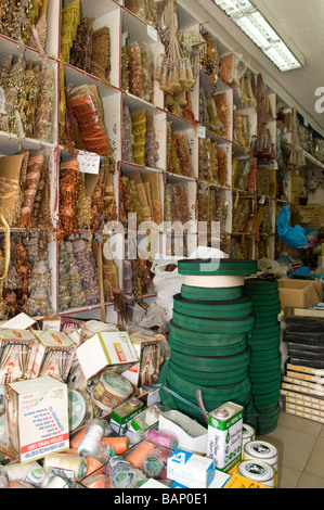
<path id="1" fill-rule="evenodd" d="M 61 331 L 53 324 L 0 331 L 2 488 L 273 486 L 236 470 L 244 460 L 243 407 L 229 403 L 233 416 L 222 431 L 224 446 L 232 429 L 236 441 L 229 462 L 212 448 L 215 417 L 204 426 L 160 403 L 161 336 L 82 322 L 62 322 Z M 93 395 L 114 404 L 106 409 L 102 398 L 95 406 Z"/>

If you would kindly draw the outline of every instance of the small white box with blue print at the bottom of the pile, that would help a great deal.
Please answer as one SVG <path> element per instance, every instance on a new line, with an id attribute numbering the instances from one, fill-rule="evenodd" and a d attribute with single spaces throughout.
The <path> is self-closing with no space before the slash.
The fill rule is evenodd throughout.
<path id="1" fill-rule="evenodd" d="M 215 477 L 215 461 L 178 448 L 168 458 L 167 477 L 189 488 L 207 488 Z"/>

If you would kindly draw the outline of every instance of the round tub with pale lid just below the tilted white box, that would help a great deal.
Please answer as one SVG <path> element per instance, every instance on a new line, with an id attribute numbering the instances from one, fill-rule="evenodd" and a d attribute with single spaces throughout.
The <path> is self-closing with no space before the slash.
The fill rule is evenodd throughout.
<path id="1" fill-rule="evenodd" d="M 93 397 L 96 403 L 104 407 L 114 408 L 127 400 L 133 393 L 132 384 L 119 373 L 105 370 L 101 373 L 100 380 L 93 390 Z"/>

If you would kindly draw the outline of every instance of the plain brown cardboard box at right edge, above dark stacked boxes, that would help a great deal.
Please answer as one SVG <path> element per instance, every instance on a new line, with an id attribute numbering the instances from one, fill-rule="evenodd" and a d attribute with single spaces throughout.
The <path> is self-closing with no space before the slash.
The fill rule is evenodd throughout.
<path id="1" fill-rule="evenodd" d="M 278 280 L 282 310 L 287 307 L 312 308 L 323 301 L 323 282 L 315 280 Z"/>

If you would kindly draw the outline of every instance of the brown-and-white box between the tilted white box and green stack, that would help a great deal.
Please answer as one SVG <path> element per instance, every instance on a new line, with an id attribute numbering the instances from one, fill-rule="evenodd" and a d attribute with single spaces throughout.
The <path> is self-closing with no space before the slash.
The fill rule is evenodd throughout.
<path id="1" fill-rule="evenodd" d="M 130 334 L 130 340 L 139 362 L 122 372 L 122 375 L 135 387 L 156 383 L 159 375 L 160 341 L 141 334 Z"/>

